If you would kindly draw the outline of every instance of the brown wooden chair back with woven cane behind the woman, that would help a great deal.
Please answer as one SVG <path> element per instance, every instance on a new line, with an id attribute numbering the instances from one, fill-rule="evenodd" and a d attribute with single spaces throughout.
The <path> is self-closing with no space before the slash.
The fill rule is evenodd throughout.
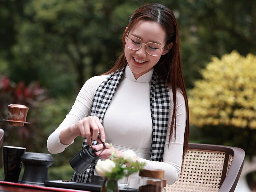
<path id="1" fill-rule="evenodd" d="M 188 144 L 180 178 L 166 192 L 232 192 L 240 177 L 245 152 L 231 146 Z"/>

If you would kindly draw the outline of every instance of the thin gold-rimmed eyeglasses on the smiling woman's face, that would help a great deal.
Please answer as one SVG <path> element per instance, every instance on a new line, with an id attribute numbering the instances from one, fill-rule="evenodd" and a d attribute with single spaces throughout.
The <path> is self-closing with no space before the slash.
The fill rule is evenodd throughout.
<path id="1" fill-rule="evenodd" d="M 159 55 L 159 53 L 161 52 L 163 48 L 161 48 L 161 45 L 160 44 L 157 44 L 157 43 L 153 43 L 153 42 L 148 42 L 147 44 L 145 43 L 142 43 L 141 39 L 137 38 L 137 37 L 134 37 L 134 36 L 127 36 L 126 37 L 126 46 L 129 48 L 129 49 L 132 49 L 132 50 L 139 50 L 141 47 L 142 47 L 142 44 L 146 45 L 145 46 L 145 49 L 146 49 L 146 52 L 149 54 L 149 55 L 152 55 L 152 56 L 157 56 Z"/>

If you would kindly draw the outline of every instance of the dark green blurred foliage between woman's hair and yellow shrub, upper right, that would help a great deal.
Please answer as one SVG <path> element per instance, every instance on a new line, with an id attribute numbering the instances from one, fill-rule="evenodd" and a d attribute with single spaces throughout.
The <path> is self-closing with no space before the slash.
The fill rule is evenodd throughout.
<path id="1" fill-rule="evenodd" d="M 236 49 L 256 53 L 256 1 L 187 0 L 178 3 L 184 78 L 188 88 L 212 55 Z"/>

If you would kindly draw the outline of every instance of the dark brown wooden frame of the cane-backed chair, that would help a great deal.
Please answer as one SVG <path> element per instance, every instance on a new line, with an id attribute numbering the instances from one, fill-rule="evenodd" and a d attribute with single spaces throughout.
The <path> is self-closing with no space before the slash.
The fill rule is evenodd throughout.
<path id="1" fill-rule="evenodd" d="M 224 166 L 222 169 L 223 174 L 221 175 L 219 192 L 235 191 L 237 182 L 239 180 L 239 177 L 244 165 L 245 152 L 243 149 L 238 147 L 232 147 L 232 146 L 197 144 L 197 143 L 189 143 L 188 148 L 197 149 L 197 150 L 225 152 Z M 233 160 L 229 167 L 228 174 L 226 175 L 225 170 L 228 169 L 229 155 L 233 156 Z"/>

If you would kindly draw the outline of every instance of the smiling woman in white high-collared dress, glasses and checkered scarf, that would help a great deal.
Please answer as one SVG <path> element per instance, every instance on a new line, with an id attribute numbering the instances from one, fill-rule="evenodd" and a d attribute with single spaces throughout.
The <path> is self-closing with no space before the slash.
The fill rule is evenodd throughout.
<path id="1" fill-rule="evenodd" d="M 50 153 L 60 153 L 84 137 L 83 147 L 112 150 L 122 156 L 132 149 L 146 168 L 163 169 L 167 184 L 180 176 L 188 148 L 188 99 L 182 77 L 178 26 L 174 14 L 161 4 L 140 7 L 122 36 L 123 53 L 107 73 L 85 82 L 72 109 L 49 136 Z M 93 141 L 92 141 L 92 140 Z M 99 140 L 98 140 L 99 141 Z M 110 149 L 109 144 L 113 147 Z M 95 145 L 96 144 L 96 145 Z M 72 181 L 89 182 L 94 167 L 75 172 Z M 130 187 L 136 188 L 136 176 Z"/>

